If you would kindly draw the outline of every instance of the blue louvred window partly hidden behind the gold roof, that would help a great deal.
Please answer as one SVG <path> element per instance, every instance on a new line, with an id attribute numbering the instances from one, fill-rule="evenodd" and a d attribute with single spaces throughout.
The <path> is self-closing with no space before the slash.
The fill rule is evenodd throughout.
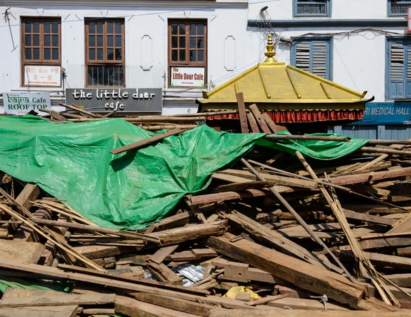
<path id="1" fill-rule="evenodd" d="M 332 80 L 332 40 L 301 40 L 292 43 L 291 64 L 303 71 Z"/>

